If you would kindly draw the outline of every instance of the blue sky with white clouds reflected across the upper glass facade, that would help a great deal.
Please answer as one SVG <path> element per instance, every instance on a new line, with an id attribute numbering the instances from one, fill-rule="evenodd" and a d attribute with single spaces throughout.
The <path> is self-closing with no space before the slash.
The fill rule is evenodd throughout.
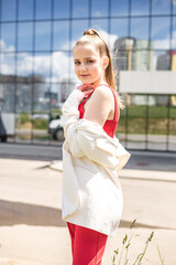
<path id="1" fill-rule="evenodd" d="M 52 0 L 35 0 L 35 31 L 34 31 L 34 0 L 19 0 L 19 9 L 15 12 L 15 0 L 2 0 L 1 11 L 1 30 L 0 47 L 1 51 L 11 52 L 9 55 L 1 56 L 1 72 L 14 73 L 14 56 L 19 54 L 19 74 L 28 74 L 32 70 L 35 61 L 36 72 L 48 76 L 50 65 L 53 60 L 53 75 L 56 80 L 63 74 L 68 73 L 70 53 L 69 43 L 69 15 L 73 15 L 72 23 L 72 43 L 77 40 L 85 29 L 94 26 L 101 30 L 109 41 L 111 49 L 118 38 L 128 36 L 129 34 L 129 0 L 111 0 L 110 32 L 108 15 L 108 0 L 91 0 L 91 21 L 89 17 L 88 0 L 73 0 L 70 10 L 69 0 L 53 0 L 54 22 L 51 22 Z M 151 33 L 153 46 L 161 50 L 176 49 L 176 17 L 173 18 L 173 40 L 170 41 L 170 1 L 153 0 L 152 1 L 152 31 L 148 31 L 148 0 L 132 0 L 131 6 L 131 36 L 136 40 L 147 40 Z M 173 0 L 173 10 L 176 15 L 176 0 Z M 72 12 L 70 12 L 72 11 Z M 15 24 L 18 14 L 19 23 Z M 168 17 L 160 17 L 166 14 Z M 81 20 L 81 18 L 84 20 Z M 61 19 L 61 20 L 59 20 Z M 51 38 L 51 29 L 53 36 Z M 18 38 L 16 38 L 18 34 Z M 35 39 L 34 39 L 35 36 Z M 170 46 L 172 44 L 172 46 Z M 35 59 L 32 51 L 35 50 Z M 53 50 L 53 52 L 51 52 Z M 64 52 L 65 51 L 65 52 Z M 58 62 L 64 62 L 64 67 L 58 66 Z M 8 72 L 9 71 L 9 72 Z"/>

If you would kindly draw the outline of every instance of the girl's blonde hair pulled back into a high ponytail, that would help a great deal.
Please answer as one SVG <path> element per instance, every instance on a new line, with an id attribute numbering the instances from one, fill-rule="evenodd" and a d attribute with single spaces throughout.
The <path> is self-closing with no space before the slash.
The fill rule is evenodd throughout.
<path id="1" fill-rule="evenodd" d="M 108 47 L 108 44 L 102 39 L 102 36 L 98 33 L 98 31 L 96 31 L 94 29 L 86 30 L 84 32 L 84 35 L 75 43 L 74 49 L 77 45 L 85 44 L 85 43 L 91 43 L 91 44 L 96 45 L 96 47 L 98 49 L 98 51 L 100 53 L 100 56 L 106 54 L 107 57 L 109 59 L 109 64 L 108 64 L 107 68 L 105 70 L 106 81 L 107 81 L 108 85 L 113 91 L 117 92 L 117 85 L 116 85 L 113 67 L 112 67 L 112 59 L 111 59 L 111 54 L 110 54 L 110 50 Z M 122 100 L 121 100 L 119 95 L 118 95 L 118 100 L 119 100 L 120 108 L 123 108 L 123 104 L 122 104 Z"/>

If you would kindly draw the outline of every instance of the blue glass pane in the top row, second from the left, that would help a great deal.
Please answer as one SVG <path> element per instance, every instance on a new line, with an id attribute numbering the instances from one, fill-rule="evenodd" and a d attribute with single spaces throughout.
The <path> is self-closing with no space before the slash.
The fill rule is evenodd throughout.
<path id="1" fill-rule="evenodd" d="M 19 0 L 19 20 L 33 19 L 33 0 Z"/>

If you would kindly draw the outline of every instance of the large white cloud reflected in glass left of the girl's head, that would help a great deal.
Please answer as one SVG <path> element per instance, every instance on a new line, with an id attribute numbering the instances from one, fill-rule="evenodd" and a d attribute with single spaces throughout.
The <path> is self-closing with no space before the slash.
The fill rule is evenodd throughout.
<path id="1" fill-rule="evenodd" d="M 14 47 L 7 46 L 4 41 L 0 41 L 0 47 L 3 52 L 15 51 Z M 68 78 L 69 74 L 69 63 L 73 60 L 68 54 L 63 52 L 53 52 L 52 54 L 46 55 L 35 55 L 32 56 L 29 53 L 19 53 L 18 54 L 18 75 L 28 76 L 33 72 L 33 65 L 35 70 L 35 74 L 44 76 L 47 81 L 50 81 L 50 71 L 51 63 L 53 70 L 52 81 L 59 82 L 63 78 Z M 2 74 L 14 74 L 14 60 L 13 54 L 3 54 L 1 55 L 1 73 Z M 70 67 L 70 75 L 74 78 L 74 71 Z"/>

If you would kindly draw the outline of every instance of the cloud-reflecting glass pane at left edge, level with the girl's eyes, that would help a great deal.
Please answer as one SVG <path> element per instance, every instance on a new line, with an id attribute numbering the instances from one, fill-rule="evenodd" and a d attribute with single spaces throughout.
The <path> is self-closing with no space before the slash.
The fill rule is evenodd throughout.
<path id="1" fill-rule="evenodd" d="M 1 74 L 4 75 L 14 75 L 15 74 L 15 54 L 6 53 L 1 54 Z"/>

